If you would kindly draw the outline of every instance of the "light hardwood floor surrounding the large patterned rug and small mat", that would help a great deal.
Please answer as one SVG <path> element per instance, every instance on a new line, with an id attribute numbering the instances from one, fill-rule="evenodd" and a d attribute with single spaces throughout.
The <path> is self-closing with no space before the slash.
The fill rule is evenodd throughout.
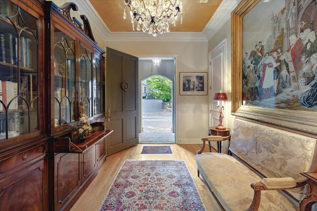
<path id="1" fill-rule="evenodd" d="M 143 146 L 148 145 L 170 145 L 172 154 L 141 154 Z M 200 148 L 201 144 L 138 144 L 110 155 L 106 157 L 106 163 L 99 169 L 97 177 L 71 208 L 71 211 L 98 211 L 108 188 L 126 159 L 184 160 L 192 174 L 206 211 L 219 211 L 220 208 L 212 197 L 210 190 L 202 179 L 197 176 L 195 156 Z M 205 148 L 204 152 L 208 152 L 207 148 Z"/>

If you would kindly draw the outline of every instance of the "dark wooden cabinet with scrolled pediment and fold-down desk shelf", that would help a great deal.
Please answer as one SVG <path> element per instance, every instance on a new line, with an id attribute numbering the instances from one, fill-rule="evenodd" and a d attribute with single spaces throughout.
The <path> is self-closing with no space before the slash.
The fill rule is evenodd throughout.
<path id="1" fill-rule="evenodd" d="M 95 42 L 86 16 L 79 21 L 70 15 L 74 11 L 74 3 L 58 7 L 46 2 L 49 206 L 56 211 L 69 210 L 96 177 L 112 132 L 104 124 L 105 51 Z M 83 111 L 93 129 L 80 143 L 75 128 Z"/>

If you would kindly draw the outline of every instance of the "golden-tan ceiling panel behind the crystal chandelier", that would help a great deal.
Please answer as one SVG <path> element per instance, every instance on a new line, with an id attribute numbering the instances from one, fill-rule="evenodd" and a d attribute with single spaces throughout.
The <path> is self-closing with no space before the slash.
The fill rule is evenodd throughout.
<path id="1" fill-rule="evenodd" d="M 124 0 L 89 0 L 100 18 L 104 21 L 111 33 L 133 32 L 128 7 L 127 18 L 123 19 Z M 180 16 L 176 26 L 170 25 L 171 32 L 203 32 L 212 15 L 222 0 L 209 0 L 208 3 L 198 3 L 197 0 L 182 0 L 182 24 Z M 135 24 L 135 32 L 136 30 Z"/>

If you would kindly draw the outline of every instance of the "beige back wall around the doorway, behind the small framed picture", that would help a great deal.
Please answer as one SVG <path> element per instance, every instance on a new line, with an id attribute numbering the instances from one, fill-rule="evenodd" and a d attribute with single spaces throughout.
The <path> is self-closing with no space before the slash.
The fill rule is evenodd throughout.
<path id="1" fill-rule="evenodd" d="M 179 73 L 208 72 L 208 43 L 124 41 L 104 43 L 107 47 L 135 56 L 176 55 L 176 142 L 201 143 L 200 139 L 208 134 L 208 95 L 179 95 Z"/>

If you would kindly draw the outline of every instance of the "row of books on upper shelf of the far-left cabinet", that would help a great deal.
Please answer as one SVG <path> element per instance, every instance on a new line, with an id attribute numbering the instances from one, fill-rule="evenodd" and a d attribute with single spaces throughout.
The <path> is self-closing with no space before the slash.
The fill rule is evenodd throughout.
<path id="1" fill-rule="evenodd" d="M 20 52 L 18 54 L 18 38 L 11 33 L 0 33 L 0 62 L 17 65 L 18 58 L 21 67 L 32 68 L 32 40 L 20 37 Z"/>

